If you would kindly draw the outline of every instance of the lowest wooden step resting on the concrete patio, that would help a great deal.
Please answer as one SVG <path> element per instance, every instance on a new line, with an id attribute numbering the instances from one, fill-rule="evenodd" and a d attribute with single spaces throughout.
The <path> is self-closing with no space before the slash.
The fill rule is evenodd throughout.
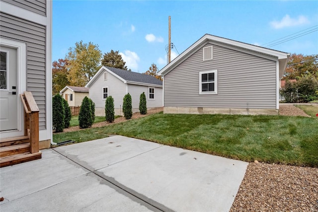
<path id="1" fill-rule="evenodd" d="M 0 158 L 0 167 L 11 166 L 14 164 L 19 164 L 31 160 L 37 160 L 42 158 L 42 152 L 37 152 L 31 154 L 30 152 L 25 152 L 16 155 L 10 155 Z"/>

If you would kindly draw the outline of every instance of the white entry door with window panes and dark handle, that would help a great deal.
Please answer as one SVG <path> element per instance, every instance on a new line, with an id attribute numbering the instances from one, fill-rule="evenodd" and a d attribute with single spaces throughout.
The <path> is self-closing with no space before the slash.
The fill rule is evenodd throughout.
<path id="1" fill-rule="evenodd" d="M 18 128 L 17 50 L 0 46 L 0 131 Z"/>

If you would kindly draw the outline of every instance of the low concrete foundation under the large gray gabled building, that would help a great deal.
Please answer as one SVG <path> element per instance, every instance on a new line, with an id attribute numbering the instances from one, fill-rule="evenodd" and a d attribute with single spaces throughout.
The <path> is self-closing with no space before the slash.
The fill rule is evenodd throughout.
<path id="1" fill-rule="evenodd" d="M 163 113 L 278 115 L 278 109 L 213 108 L 213 107 L 167 107 L 167 106 L 165 106 L 165 107 L 163 107 Z"/>

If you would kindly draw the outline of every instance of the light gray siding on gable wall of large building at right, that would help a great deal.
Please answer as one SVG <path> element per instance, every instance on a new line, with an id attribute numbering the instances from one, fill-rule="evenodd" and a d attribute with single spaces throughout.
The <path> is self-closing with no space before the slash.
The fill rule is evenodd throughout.
<path id="1" fill-rule="evenodd" d="M 203 61 L 203 47 L 164 76 L 164 106 L 276 108 L 276 58 L 213 44 L 213 60 Z M 199 72 L 212 70 L 218 94 L 199 95 Z"/>

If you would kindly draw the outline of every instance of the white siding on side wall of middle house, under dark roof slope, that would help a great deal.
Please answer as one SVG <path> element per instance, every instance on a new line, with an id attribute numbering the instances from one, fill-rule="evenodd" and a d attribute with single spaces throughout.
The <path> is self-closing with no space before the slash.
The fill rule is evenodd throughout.
<path id="1" fill-rule="evenodd" d="M 149 88 L 155 88 L 155 100 L 149 99 Z M 147 108 L 162 106 L 162 88 L 128 84 L 128 93 L 132 98 L 132 107 L 139 108 L 140 95 L 145 92 Z"/>

